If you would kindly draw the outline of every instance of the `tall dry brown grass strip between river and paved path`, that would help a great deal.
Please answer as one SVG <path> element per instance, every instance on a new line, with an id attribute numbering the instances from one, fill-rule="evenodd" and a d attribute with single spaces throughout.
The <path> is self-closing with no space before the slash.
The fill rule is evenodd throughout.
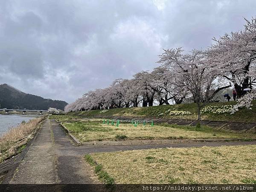
<path id="1" fill-rule="evenodd" d="M 18 149 L 32 139 L 36 130 L 39 128 L 39 123 L 44 119 L 45 116 L 31 119 L 25 124 L 10 128 L 8 132 L 3 134 L 0 137 L 0 162 L 17 154 Z"/>

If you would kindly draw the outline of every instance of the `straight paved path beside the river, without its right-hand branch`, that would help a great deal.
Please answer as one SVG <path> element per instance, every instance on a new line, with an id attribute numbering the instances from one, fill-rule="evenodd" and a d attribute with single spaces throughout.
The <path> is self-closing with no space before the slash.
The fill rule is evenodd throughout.
<path id="1" fill-rule="evenodd" d="M 10 183 L 93 183 L 90 167 L 58 123 L 47 119 Z"/>

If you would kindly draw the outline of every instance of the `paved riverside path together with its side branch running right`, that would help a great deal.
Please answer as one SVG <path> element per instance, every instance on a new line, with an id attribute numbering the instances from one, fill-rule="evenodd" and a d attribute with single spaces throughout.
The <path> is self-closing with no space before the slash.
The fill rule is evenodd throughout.
<path id="1" fill-rule="evenodd" d="M 29 146 L 10 183 L 94 183 L 92 170 L 84 163 L 87 153 L 165 147 L 256 145 L 253 142 L 169 143 L 141 145 L 76 146 L 55 120 L 47 119 Z"/>

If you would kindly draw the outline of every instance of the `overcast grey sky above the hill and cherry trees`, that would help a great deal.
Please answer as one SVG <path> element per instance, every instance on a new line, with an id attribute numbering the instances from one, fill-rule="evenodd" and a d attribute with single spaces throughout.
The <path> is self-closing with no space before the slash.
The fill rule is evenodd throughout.
<path id="1" fill-rule="evenodd" d="M 204 49 L 256 16 L 255 0 L 0 0 L 0 84 L 73 102 L 157 67 L 168 48 Z"/>

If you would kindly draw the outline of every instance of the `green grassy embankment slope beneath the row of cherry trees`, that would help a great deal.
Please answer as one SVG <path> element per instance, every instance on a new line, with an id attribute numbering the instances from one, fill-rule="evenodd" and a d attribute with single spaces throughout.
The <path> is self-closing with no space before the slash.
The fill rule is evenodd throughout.
<path id="1" fill-rule="evenodd" d="M 225 108 L 223 106 L 235 105 L 236 102 L 217 102 L 210 103 L 207 106 L 214 108 Z M 172 111 L 187 111 L 186 115 L 171 115 Z M 92 110 L 70 112 L 69 115 L 80 117 L 93 117 L 96 115 L 108 116 L 147 116 L 147 117 L 165 117 L 172 119 L 197 119 L 197 108 L 195 103 L 180 104 L 180 105 L 162 105 L 153 107 L 140 108 L 118 108 L 110 110 Z M 213 113 L 211 110 L 202 114 L 202 119 L 205 120 L 223 120 L 223 121 L 239 121 L 239 122 L 256 122 L 256 100 L 253 101 L 252 109 L 243 108 L 234 114 L 230 112 Z"/>

